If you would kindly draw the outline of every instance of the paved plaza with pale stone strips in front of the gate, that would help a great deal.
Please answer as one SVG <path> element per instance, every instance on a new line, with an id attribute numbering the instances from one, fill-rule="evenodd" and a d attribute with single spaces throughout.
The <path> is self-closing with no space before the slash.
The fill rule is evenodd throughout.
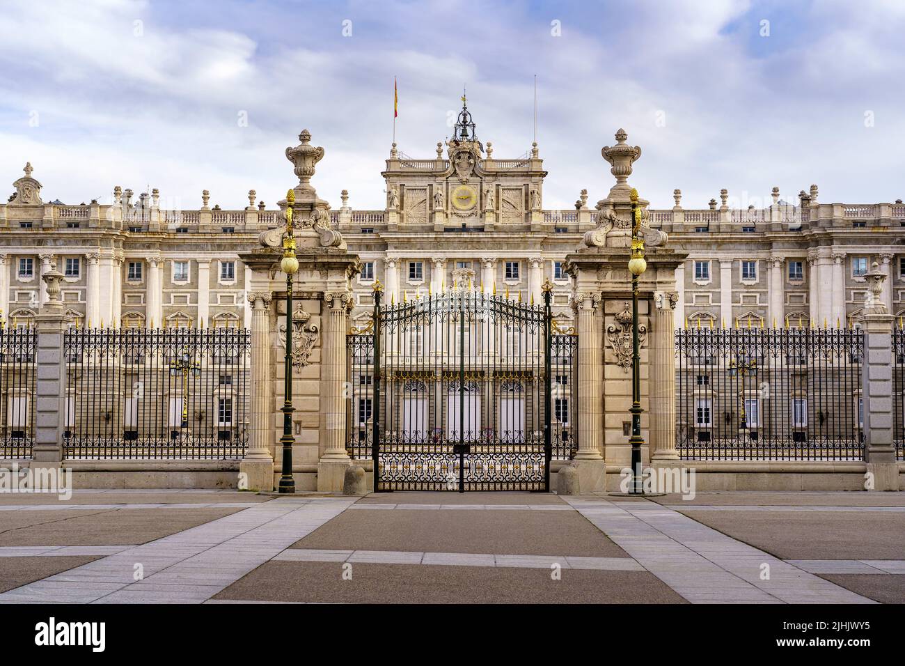
<path id="1" fill-rule="evenodd" d="M 905 497 L 0 496 L 0 603 L 902 603 Z"/>

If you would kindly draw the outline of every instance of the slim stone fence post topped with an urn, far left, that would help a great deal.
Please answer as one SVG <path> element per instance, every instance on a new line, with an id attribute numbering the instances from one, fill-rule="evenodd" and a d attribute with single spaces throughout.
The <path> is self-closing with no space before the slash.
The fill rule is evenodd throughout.
<path id="1" fill-rule="evenodd" d="M 69 327 L 60 298 L 62 274 L 51 264 L 42 271 L 47 301 L 35 316 L 34 443 L 31 468 L 59 468 L 66 411 L 66 363 L 63 332 Z"/>

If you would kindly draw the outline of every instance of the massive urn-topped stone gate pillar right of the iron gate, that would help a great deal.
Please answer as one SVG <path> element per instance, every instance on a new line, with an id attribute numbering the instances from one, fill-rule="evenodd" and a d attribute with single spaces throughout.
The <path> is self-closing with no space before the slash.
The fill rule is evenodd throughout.
<path id="1" fill-rule="evenodd" d="M 616 144 L 606 146 L 603 155 L 612 165 L 616 183 L 607 198 L 597 202 L 595 228 L 586 232 L 565 265 L 574 280 L 578 314 L 579 439 L 574 464 L 583 493 L 618 489 L 619 472 L 631 464 L 632 188 L 627 179 L 641 149 L 625 142 L 624 130 L 615 136 Z M 638 199 L 647 260 L 638 284 L 642 459 L 670 464 L 679 458 L 674 416 L 675 273 L 688 254 L 665 246 L 666 234 L 648 224 L 647 204 Z M 651 410 L 652 404 L 656 410 Z"/>

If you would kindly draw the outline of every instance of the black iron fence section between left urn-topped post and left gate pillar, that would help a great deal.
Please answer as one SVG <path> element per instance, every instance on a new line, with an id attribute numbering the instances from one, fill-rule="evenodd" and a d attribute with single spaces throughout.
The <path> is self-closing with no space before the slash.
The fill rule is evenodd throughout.
<path id="1" fill-rule="evenodd" d="M 65 458 L 242 458 L 250 334 L 214 328 L 65 333 Z"/>

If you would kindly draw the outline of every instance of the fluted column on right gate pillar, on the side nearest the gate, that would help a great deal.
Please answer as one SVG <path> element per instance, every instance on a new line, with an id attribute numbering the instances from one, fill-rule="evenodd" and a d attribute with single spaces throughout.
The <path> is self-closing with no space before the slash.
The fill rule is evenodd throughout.
<path id="1" fill-rule="evenodd" d="M 576 460 L 600 460 L 600 430 L 603 369 L 600 367 L 602 338 L 597 330 L 600 294 L 576 293 L 578 308 L 578 452 Z"/>

